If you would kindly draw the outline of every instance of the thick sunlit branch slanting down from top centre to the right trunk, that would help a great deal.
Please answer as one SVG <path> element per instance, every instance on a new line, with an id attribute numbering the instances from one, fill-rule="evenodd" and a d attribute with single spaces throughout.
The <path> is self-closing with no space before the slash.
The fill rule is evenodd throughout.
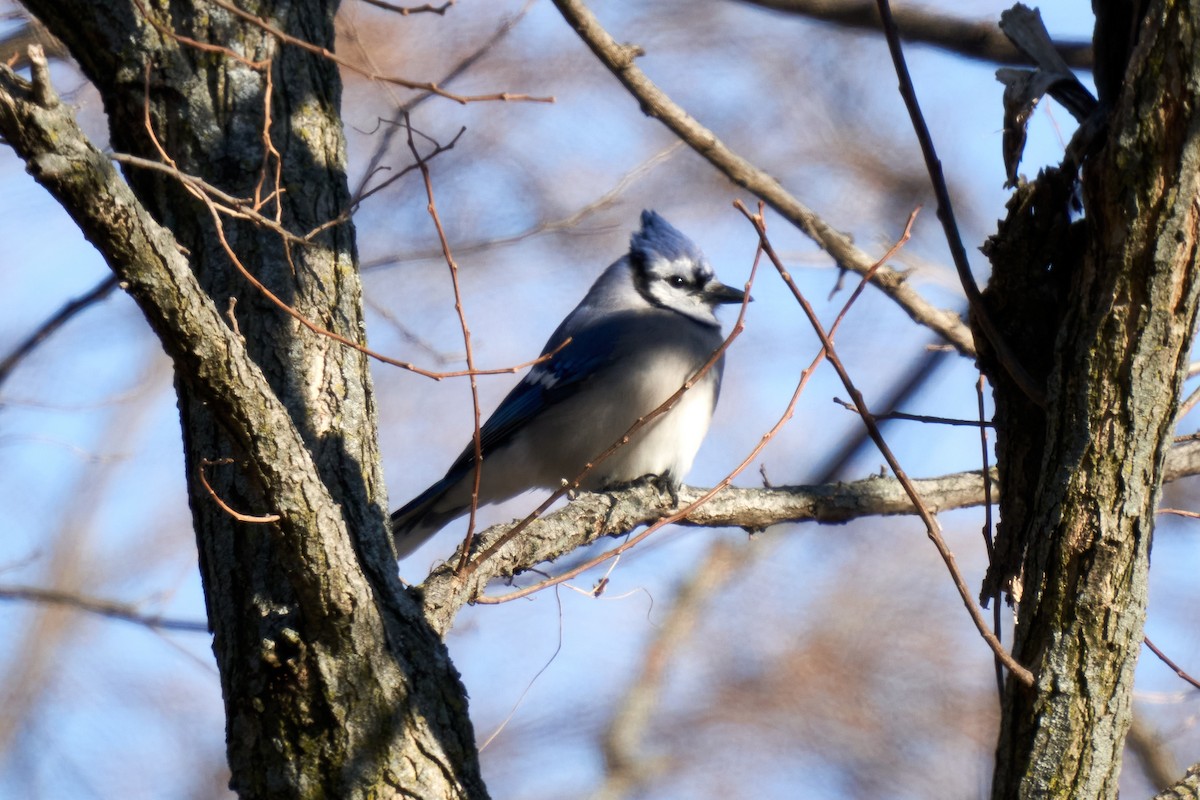
<path id="1" fill-rule="evenodd" d="M 824 219 L 792 197 L 779 181 L 733 152 L 712 131 L 697 122 L 654 85 L 654 82 L 634 64 L 634 60 L 642 54 L 641 48 L 634 44 L 619 44 L 580 0 L 554 0 L 554 5 L 580 38 L 592 48 L 600 62 L 641 103 L 647 116 L 653 116 L 666 125 L 726 178 L 752 192 L 804 231 L 829 253 L 839 266 L 859 275 L 865 275 L 871 269 L 875 259 L 856 247 L 848 236 L 830 228 Z M 962 319 L 952 311 L 935 308 L 926 302 L 905 282 L 902 273 L 884 266 L 875 273 L 871 283 L 904 308 L 913 321 L 938 333 L 959 353 L 974 356 L 974 339 Z"/>

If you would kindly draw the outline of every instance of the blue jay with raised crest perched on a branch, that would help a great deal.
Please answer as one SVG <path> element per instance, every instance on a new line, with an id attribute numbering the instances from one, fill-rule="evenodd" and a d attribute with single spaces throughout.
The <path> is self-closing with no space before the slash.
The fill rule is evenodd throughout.
<path id="1" fill-rule="evenodd" d="M 713 276 L 686 236 L 643 211 L 629 253 L 592 284 L 542 355 L 570 343 L 535 365 L 484 423 L 479 505 L 574 480 L 708 361 L 724 341 L 716 306 L 743 297 Z M 678 487 L 708 432 L 722 367 L 724 356 L 667 414 L 596 464 L 581 487 L 611 488 L 652 475 Z M 400 558 L 469 510 L 474 469 L 472 443 L 445 477 L 391 515 Z"/>

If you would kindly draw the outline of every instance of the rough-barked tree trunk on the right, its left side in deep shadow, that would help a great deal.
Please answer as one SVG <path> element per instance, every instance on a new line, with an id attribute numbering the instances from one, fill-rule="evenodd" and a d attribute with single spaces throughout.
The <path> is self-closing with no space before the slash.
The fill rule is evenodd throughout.
<path id="1" fill-rule="evenodd" d="M 992 796 L 1115 798 L 1142 639 L 1164 457 L 1195 327 L 1200 109 L 1195 2 L 1100 7 L 1108 128 L 1082 168 L 1019 191 L 991 242 L 989 302 L 1046 380 L 994 361 L 1002 537 L 992 588 L 1018 602 Z M 1104 61 L 1104 65 L 1099 61 Z M 985 359 L 988 354 L 984 354 Z"/>

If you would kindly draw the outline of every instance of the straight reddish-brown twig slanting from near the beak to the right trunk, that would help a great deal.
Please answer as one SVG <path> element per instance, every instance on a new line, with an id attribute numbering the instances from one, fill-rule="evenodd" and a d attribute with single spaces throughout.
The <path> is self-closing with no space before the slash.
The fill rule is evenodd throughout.
<path id="1" fill-rule="evenodd" d="M 955 589 L 958 589 L 959 595 L 962 597 L 962 603 L 966 606 L 967 612 L 971 614 L 971 620 L 974 622 L 976 628 L 979 631 L 979 636 L 982 636 L 983 639 L 988 643 L 988 645 L 992 649 L 992 652 L 995 652 L 996 656 L 1004 662 L 1004 666 L 1008 667 L 1009 672 L 1013 673 L 1013 675 L 1015 675 L 1025 685 L 1032 686 L 1033 673 L 1031 673 L 1027 668 L 1018 663 L 1018 661 L 1007 650 L 1004 650 L 1003 645 L 1000 643 L 1000 639 L 997 639 L 996 634 L 992 633 L 991 630 L 988 627 L 988 624 L 984 621 L 983 615 L 976 607 L 974 601 L 971 597 L 971 593 L 967 589 L 966 581 L 962 578 L 962 573 L 959 571 L 958 563 L 954 558 L 954 553 L 950 552 L 950 548 L 947 547 L 946 545 L 946 540 L 942 539 L 942 534 L 937 524 L 937 521 L 934 518 L 934 515 L 930 513 L 929 507 L 922 500 L 920 494 L 912 485 L 912 481 L 908 479 L 907 473 L 905 473 L 904 468 L 900 467 L 900 462 L 896 461 L 896 457 L 892 453 L 892 449 L 888 447 L 887 441 L 884 441 L 883 434 L 880 432 L 880 427 L 875 422 L 875 417 L 871 416 L 871 413 L 868 409 L 866 403 L 863 401 L 862 393 L 854 386 L 854 383 L 850 379 L 850 374 L 846 372 L 845 366 L 842 366 L 841 359 L 838 357 L 838 354 L 834 350 L 833 341 L 829 338 L 829 335 L 826 333 L 824 327 L 821 325 L 821 320 L 817 319 L 816 312 L 812 311 L 812 306 L 809 305 L 809 301 L 804 297 L 799 287 L 797 287 L 796 282 L 792 281 L 792 276 L 787 272 L 787 269 L 779 259 L 779 255 L 775 253 L 775 249 L 770 246 L 770 242 L 767 239 L 767 230 L 766 227 L 763 225 L 762 218 L 751 216 L 750 212 L 745 209 L 745 206 L 742 206 L 739 210 L 755 227 L 755 230 L 758 231 L 758 241 L 762 245 L 763 252 L 767 254 L 767 258 L 770 259 L 772 264 L 775 265 L 775 269 L 779 270 L 779 273 L 784 277 L 785 283 L 787 283 L 788 288 L 792 290 L 792 295 L 796 297 L 796 301 L 800 305 L 800 308 L 804 309 L 805 317 L 809 318 L 809 323 L 812 325 L 812 330 L 816 332 L 817 337 L 821 339 L 821 344 L 826 349 L 826 356 L 829 359 L 829 365 L 838 373 L 838 377 L 841 379 L 842 385 L 850 393 L 851 399 L 853 399 L 854 405 L 858 409 L 859 416 L 863 420 L 863 425 L 866 426 L 868 433 L 870 433 L 871 440 L 875 441 L 875 446 L 880 450 L 880 453 L 883 456 L 884 461 L 887 461 L 888 467 L 896 476 L 896 480 L 900 481 L 901 486 L 904 486 L 905 493 L 908 495 L 908 499 L 912 500 L 913 507 L 917 510 L 918 516 L 920 517 L 922 522 L 925 523 L 926 534 L 929 535 L 930 541 L 932 541 L 934 546 L 937 548 L 938 554 L 942 557 L 942 561 L 946 563 L 946 567 L 949 570 L 950 577 L 954 581 L 954 587 Z"/>

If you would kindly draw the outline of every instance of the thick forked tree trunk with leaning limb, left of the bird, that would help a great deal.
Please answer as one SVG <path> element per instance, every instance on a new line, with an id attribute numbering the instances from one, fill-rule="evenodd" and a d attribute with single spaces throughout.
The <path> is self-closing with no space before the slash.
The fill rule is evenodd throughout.
<path id="1" fill-rule="evenodd" d="M 149 115 L 174 163 L 228 194 L 253 197 L 264 174 L 269 194 L 277 163 L 283 193 L 263 210 L 298 235 L 346 211 L 340 80 L 328 60 L 210 4 L 160 4 L 148 11 L 154 24 L 121 0 L 28 6 L 100 89 L 116 150 L 158 158 Z M 334 11 L 254 7 L 330 47 Z M 133 170 L 134 198 L 44 83 L 2 77 L 5 138 L 128 284 L 175 363 L 233 787 L 246 798 L 486 796 L 466 693 L 396 577 L 365 357 L 252 288 L 179 181 Z M 277 162 L 263 140 L 268 108 Z M 362 339 L 350 224 L 310 245 L 247 222 L 227 221 L 224 233 L 271 291 Z M 230 299 L 236 330 L 222 313 Z M 202 469 L 233 509 L 278 519 L 236 521 Z"/>

